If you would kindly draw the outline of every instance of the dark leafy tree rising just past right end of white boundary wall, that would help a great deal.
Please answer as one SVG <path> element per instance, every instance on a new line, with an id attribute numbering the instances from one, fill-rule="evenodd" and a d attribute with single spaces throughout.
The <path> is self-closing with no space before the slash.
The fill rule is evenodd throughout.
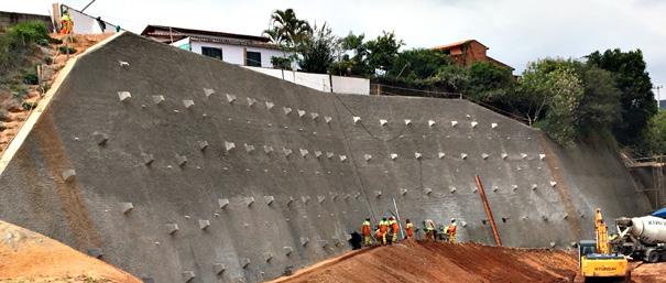
<path id="1" fill-rule="evenodd" d="M 365 43 L 368 47 L 368 65 L 372 70 L 391 69 L 395 63 L 400 47 L 403 45 L 403 41 L 396 39 L 394 32 L 383 31 L 382 35 Z"/>

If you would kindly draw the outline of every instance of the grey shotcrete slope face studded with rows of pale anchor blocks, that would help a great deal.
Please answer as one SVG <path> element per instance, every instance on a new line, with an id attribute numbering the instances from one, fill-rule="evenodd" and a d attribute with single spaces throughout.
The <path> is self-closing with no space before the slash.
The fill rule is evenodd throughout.
<path id="1" fill-rule="evenodd" d="M 490 243 L 476 174 L 507 246 L 568 247 L 592 237 L 594 207 L 648 209 L 604 146 L 564 151 L 466 100 L 319 92 L 129 33 L 55 91 L 0 176 L 0 218 L 146 281 L 273 279 L 348 250 L 393 199 L 403 219 L 456 218 L 460 240 Z"/>

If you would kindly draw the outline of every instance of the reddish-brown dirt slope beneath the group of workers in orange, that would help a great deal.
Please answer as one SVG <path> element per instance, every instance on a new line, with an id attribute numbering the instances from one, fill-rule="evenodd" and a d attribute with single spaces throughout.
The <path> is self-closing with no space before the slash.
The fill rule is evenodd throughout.
<path id="1" fill-rule="evenodd" d="M 362 251 L 276 282 L 572 282 L 578 262 L 557 250 L 405 242 Z"/>

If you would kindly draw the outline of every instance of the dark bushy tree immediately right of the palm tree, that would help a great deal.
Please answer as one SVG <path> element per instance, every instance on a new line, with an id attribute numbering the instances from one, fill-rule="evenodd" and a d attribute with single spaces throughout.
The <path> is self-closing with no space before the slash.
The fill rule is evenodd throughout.
<path id="1" fill-rule="evenodd" d="M 304 72 L 326 74 L 334 63 L 334 51 L 337 50 L 337 37 L 326 23 L 302 41 L 298 45 L 301 53 L 299 65 Z"/>

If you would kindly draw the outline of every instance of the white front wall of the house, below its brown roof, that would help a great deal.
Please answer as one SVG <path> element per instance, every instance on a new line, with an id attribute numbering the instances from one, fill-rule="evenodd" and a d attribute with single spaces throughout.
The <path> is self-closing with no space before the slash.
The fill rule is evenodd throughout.
<path id="1" fill-rule="evenodd" d="M 212 43 L 212 42 L 199 42 L 192 41 L 190 43 L 192 52 L 201 54 L 201 47 L 214 47 L 222 50 L 222 61 L 236 64 L 236 65 L 245 65 L 244 62 L 244 46 L 241 45 L 229 45 L 221 43 Z M 271 57 L 284 57 L 285 54 L 280 50 L 273 48 L 262 48 L 262 47 L 253 47 L 247 46 L 247 51 L 249 52 L 259 52 L 261 54 L 261 66 L 264 68 L 272 68 L 273 64 L 271 64 Z"/>

